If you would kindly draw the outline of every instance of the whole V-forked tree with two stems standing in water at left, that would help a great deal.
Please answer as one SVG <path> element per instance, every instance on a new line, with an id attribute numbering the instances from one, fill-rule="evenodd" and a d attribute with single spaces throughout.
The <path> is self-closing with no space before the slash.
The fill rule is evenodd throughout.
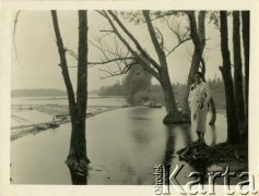
<path id="1" fill-rule="evenodd" d="M 71 117 L 71 139 L 70 150 L 66 163 L 69 167 L 73 184 L 87 183 L 87 164 L 85 140 L 85 114 L 87 100 L 87 16 L 86 11 L 79 11 L 79 59 L 78 59 L 78 91 L 76 102 L 73 87 L 70 81 L 66 50 L 59 30 L 57 12 L 51 11 L 57 46 L 60 56 L 60 66 L 69 97 L 69 108 Z"/>

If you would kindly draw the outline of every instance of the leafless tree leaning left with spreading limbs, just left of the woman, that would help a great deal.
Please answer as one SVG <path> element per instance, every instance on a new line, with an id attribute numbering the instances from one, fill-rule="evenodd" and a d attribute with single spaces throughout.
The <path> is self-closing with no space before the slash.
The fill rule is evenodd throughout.
<path id="1" fill-rule="evenodd" d="M 166 48 L 164 44 L 163 34 L 160 32 L 158 28 L 154 27 L 152 23 L 151 11 L 148 10 L 142 11 L 141 16 L 143 17 L 143 21 L 146 24 L 152 45 L 157 54 L 157 60 L 155 60 L 148 53 L 146 49 L 143 48 L 140 40 L 138 40 L 126 27 L 126 25 L 123 25 L 117 12 L 115 11 L 97 11 L 97 12 L 108 21 L 111 27 L 111 29 L 105 30 L 105 33 L 113 33 L 114 35 L 116 35 L 129 51 L 130 57 L 134 59 L 134 62 L 141 64 L 145 71 L 148 71 L 153 77 L 155 77 L 160 82 L 163 88 L 165 98 L 165 108 L 167 112 L 167 115 L 164 119 L 164 123 L 170 124 L 170 123 L 186 122 L 186 119 L 183 118 L 181 113 L 179 112 L 176 106 L 176 99 L 169 78 L 166 57 L 170 54 L 176 48 L 178 48 L 181 44 L 190 39 L 187 36 L 187 34 L 185 34 L 181 37 L 178 36 L 178 44 L 175 47 L 170 49 Z M 120 30 L 123 33 L 123 35 L 121 34 Z M 130 42 L 126 39 L 125 35 L 130 40 Z"/>

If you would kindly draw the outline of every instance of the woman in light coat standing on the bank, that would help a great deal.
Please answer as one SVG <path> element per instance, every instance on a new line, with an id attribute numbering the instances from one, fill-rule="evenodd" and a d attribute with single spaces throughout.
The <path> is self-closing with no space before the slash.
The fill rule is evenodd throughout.
<path id="1" fill-rule="evenodd" d="M 191 111 L 191 128 L 197 132 L 198 143 L 205 143 L 207 114 L 211 99 L 210 87 L 202 81 L 202 74 L 195 74 L 195 83 L 190 86 L 189 107 Z"/>

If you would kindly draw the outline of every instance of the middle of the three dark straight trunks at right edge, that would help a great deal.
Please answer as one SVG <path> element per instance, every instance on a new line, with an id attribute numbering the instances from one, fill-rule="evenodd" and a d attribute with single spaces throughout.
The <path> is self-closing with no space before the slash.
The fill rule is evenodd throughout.
<path id="1" fill-rule="evenodd" d="M 243 91 L 242 51 L 240 51 L 240 15 L 233 11 L 233 51 L 234 51 L 234 89 L 236 97 L 237 119 L 240 126 L 245 123 L 245 102 Z"/>

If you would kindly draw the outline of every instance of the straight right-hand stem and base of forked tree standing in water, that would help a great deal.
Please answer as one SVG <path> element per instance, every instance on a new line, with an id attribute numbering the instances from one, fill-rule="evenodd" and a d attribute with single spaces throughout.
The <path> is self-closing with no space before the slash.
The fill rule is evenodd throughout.
<path id="1" fill-rule="evenodd" d="M 70 151 L 67 164 L 76 179 L 86 180 L 87 163 L 85 140 L 85 115 L 87 101 L 87 15 L 86 11 L 79 11 L 79 60 L 78 60 L 78 89 L 76 89 L 76 119 L 73 119 L 75 127 L 72 130 Z M 80 168 L 80 172 L 79 169 Z M 81 175 L 76 175 L 81 174 Z M 75 182 L 84 184 L 83 181 Z"/>

